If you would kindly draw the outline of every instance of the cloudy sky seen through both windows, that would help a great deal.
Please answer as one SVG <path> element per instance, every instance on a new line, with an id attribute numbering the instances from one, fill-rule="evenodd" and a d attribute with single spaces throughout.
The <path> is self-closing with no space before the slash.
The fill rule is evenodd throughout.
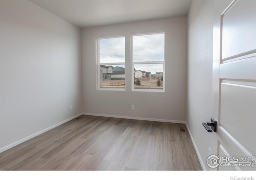
<path id="1" fill-rule="evenodd" d="M 133 60 L 134 62 L 164 61 L 164 34 L 133 36 Z M 110 62 L 125 62 L 124 37 L 100 39 L 100 63 Z M 151 74 L 163 72 L 163 64 L 134 64 L 134 68 Z"/>

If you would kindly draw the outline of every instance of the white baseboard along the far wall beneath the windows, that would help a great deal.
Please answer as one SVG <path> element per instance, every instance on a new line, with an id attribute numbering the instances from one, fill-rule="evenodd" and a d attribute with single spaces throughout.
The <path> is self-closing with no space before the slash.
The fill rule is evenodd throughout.
<path id="1" fill-rule="evenodd" d="M 172 122 L 172 123 L 180 123 L 180 124 L 186 123 L 185 121 L 178 121 L 178 120 L 139 118 L 139 117 L 133 117 L 133 116 L 116 116 L 116 115 L 110 115 L 110 114 L 96 114 L 96 113 L 88 113 L 88 112 L 84 112 L 83 114 L 90 115 L 90 116 L 103 116 L 103 117 L 109 117 L 109 118 L 135 119 L 135 120 L 158 121 L 158 122 Z"/>

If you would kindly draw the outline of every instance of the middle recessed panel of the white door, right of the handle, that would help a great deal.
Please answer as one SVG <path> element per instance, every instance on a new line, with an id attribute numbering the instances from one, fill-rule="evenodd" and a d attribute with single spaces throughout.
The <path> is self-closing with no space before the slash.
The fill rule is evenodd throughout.
<path id="1" fill-rule="evenodd" d="M 250 152 L 256 152 L 256 143 L 251 141 L 256 127 L 256 83 L 241 84 L 236 81 L 221 83 L 221 126 Z"/>

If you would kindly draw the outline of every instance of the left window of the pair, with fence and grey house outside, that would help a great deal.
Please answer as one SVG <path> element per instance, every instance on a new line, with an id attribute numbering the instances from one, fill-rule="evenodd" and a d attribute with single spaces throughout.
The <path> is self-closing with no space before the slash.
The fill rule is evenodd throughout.
<path id="1" fill-rule="evenodd" d="M 124 39 L 124 37 L 98 39 L 99 90 L 124 90 L 125 88 Z"/>

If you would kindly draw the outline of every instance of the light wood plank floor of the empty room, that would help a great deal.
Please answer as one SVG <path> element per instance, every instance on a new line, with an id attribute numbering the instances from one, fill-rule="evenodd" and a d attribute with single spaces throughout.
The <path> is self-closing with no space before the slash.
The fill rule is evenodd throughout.
<path id="1" fill-rule="evenodd" d="M 0 170 L 202 168 L 184 124 L 83 115 L 0 153 Z"/>

